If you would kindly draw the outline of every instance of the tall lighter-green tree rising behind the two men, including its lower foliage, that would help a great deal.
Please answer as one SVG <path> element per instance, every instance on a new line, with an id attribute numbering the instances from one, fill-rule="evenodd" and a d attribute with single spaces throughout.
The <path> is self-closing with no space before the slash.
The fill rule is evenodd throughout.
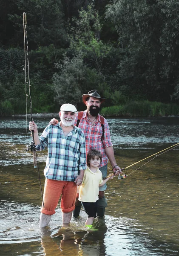
<path id="1" fill-rule="evenodd" d="M 54 74 L 56 100 L 60 104 L 65 99 L 81 102 L 82 93 L 88 90 L 108 90 L 103 73 L 103 61 L 111 47 L 100 40 L 101 24 L 99 14 L 93 5 L 81 9 L 79 18 L 74 17 L 75 26 L 68 29 L 70 47 L 63 64 L 58 63 L 59 71 Z M 64 98 L 63 92 L 66 94 Z M 78 100 L 77 100 L 78 98 Z"/>

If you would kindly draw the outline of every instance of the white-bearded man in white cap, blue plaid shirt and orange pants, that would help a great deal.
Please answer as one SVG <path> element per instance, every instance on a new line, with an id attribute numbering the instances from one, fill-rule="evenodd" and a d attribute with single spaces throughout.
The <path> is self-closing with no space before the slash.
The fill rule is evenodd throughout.
<path id="1" fill-rule="evenodd" d="M 34 121 L 29 122 L 29 130 L 34 131 L 36 150 L 48 148 L 40 228 L 50 222 L 61 195 L 63 227 L 69 225 L 75 209 L 77 185 L 82 183 L 87 167 L 85 136 L 80 128 L 74 126 L 76 113 L 74 105 L 63 104 L 59 112 L 60 123 L 48 125 L 40 137 L 37 125 Z"/>

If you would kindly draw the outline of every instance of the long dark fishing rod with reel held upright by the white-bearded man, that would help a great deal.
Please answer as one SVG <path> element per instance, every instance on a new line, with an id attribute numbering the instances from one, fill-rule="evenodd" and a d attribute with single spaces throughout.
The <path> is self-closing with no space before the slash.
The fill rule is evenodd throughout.
<path id="1" fill-rule="evenodd" d="M 23 13 L 23 30 L 24 30 L 24 73 L 25 73 L 25 82 L 26 82 L 26 133 L 28 130 L 28 125 L 27 125 L 27 101 L 29 98 L 29 109 L 30 109 L 30 117 L 31 117 L 31 122 L 33 122 L 33 117 L 32 117 L 32 100 L 31 100 L 31 83 L 30 83 L 30 77 L 29 77 L 29 61 L 28 61 L 28 41 L 27 41 L 27 17 L 26 13 Z M 27 67 L 28 67 L 28 72 L 26 75 L 26 59 L 27 59 Z M 28 77 L 28 82 L 27 82 L 27 77 Z M 27 84 L 29 86 L 29 92 L 27 94 Z M 34 168 L 37 168 L 38 170 L 38 175 L 39 175 L 39 182 L 40 182 L 40 191 L 41 191 L 41 196 L 42 196 L 42 201 L 43 201 L 43 192 L 42 192 L 42 185 L 41 185 L 41 179 L 40 179 L 40 171 L 39 171 L 39 166 L 38 166 L 38 160 L 37 160 L 37 152 L 35 148 L 35 141 L 34 141 L 34 131 L 31 131 L 31 136 L 32 136 L 32 142 L 29 144 L 30 148 L 28 148 L 26 151 L 29 149 L 33 152 L 33 162 L 34 162 Z M 28 133 L 27 133 L 28 137 Z M 44 201 L 43 201 L 43 207 L 44 206 Z"/>

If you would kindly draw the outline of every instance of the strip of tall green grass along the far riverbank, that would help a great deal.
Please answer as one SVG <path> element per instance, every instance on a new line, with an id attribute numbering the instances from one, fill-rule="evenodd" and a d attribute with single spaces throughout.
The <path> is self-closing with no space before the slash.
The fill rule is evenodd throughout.
<path id="1" fill-rule="evenodd" d="M 43 101 L 46 102 L 46 101 Z M 41 101 L 33 102 L 33 113 L 50 113 L 56 110 L 55 105 L 42 105 Z M 26 102 L 20 99 L 9 99 L 0 102 L 0 116 L 22 114 L 26 111 Z M 149 116 L 178 116 L 179 105 L 161 102 L 134 101 L 124 105 L 102 108 L 103 116 L 149 117 Z"/>

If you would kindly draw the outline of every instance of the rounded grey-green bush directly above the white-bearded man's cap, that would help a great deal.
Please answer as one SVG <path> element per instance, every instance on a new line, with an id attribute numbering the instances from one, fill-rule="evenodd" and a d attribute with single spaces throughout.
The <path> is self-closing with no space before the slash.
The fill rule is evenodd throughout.
<path id="1" fill-rule="evenodd" d="M 76 106 L 81 105 L 81 95 L 91 88 L 99 90 L 102 79 L 95 69 L 88 68 L 83 61 L 82 53 L 73 58 L 65 57 L 59 69 L 53 76 L 55 100 L 62 105 L 70 102 Z"/>

